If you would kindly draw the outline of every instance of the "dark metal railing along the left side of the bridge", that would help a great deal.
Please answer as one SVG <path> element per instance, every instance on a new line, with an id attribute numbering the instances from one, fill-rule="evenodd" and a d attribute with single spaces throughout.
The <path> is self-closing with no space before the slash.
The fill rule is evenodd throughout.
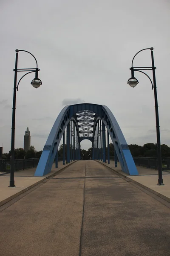
<path id="1" fill-rule="evenodd" d="M 14 160 L 14 171 L 37 167 L 40 158 L 17 159 Z M 62 161 L 62 157 L 58 157 L 58 161 Z M 0 172 L 10 172 L 11 160 L 0 160 Z"/>

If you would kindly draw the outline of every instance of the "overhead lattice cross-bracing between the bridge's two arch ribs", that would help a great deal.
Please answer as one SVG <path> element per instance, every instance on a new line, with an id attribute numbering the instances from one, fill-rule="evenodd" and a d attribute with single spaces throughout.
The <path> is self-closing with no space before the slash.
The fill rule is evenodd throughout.
<path id="1" fill-rule="evenodd" d="M 91 110 L 82 110 L 77 112 L 77 122 L 79 127 L 79 137 L 92 138 L 94 118 L 96 113 Z"/>

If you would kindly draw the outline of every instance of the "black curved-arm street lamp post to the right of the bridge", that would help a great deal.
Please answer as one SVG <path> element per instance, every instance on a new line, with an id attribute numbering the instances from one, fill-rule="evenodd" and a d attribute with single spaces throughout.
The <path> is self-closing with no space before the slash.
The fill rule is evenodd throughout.
<path id="1" fill-rule="evenodd" d="M 151 51 L 151 59 L 152 59 L 152 67 L 133 67 L 133 60 L 136 57 L 136 55 L 139 52 L 142 52 L 144 50 L 150 50 Z M 154 65 L 154 58 L 153 58 L 153 47 L 151 48 L 145 48 L 137 52 L 132 60 L 132 67 L 131 70 L 131 78 L 127 81 L 127 84 L 129 84 L 131 87 L 135 87 L 139 82 L 134 77 L 134 71 L 138 71 L 146 75 L 149 79 L 150 77 L 144 73 L 141 70 L 152 70 L 153 72 L 153 82 L 150 79 L 150 82 L 152 84 L 152 89 L 154 90 L 154 97 L 155 97 L 155 114 L 156 114 L 156 136 L 157 136 L 157 152 L 158 152 L 158 185 L 164 185 L 163 178 L 162 178 L 162 162 L 161 162 L 161 139 L 160 139 L 160 128 L 159 128 L 159 111 L 158 111 L 158 98 L 157 98 L 157 90 L 156 90 L 156 76 L 155 76 L 155 70 L 156 67 Z"/>

